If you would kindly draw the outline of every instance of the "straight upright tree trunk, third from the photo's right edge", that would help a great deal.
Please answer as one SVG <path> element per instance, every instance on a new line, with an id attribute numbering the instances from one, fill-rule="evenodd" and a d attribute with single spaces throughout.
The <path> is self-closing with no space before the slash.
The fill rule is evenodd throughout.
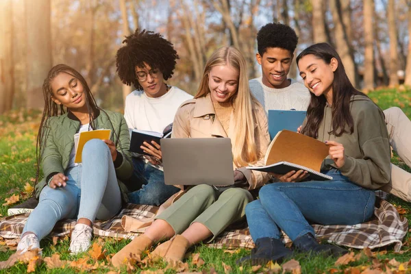
<path id="1" fill-rule="evenodd" d="M 364 90 L 374 89 L 374 1 L 364 0 Z"/>

